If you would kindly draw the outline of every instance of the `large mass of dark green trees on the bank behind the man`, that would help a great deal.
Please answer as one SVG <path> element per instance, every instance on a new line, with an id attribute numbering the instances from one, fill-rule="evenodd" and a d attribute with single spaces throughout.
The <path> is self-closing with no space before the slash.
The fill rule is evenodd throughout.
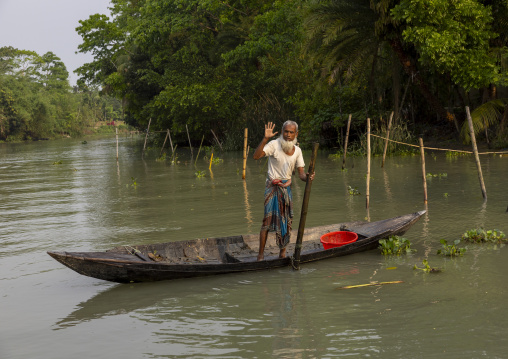
<path id="1" fill-rule="evenodd" d="M 303 145 L 340 147 L 352 114 L 361 145 L 365 119 L 382 135 L 392 111 L 393 139 L 467 142 L 469 106 L 477 138 L 504 147 L 507 25 L 505 1 L 111 0 L 76 29 L 94 57 L 78 88 L 182 144 L 187 128 L 198 144 L 213 130 L 239 149 L 248 127 L 252 147 L 264 123 L 291 119 Z"/>

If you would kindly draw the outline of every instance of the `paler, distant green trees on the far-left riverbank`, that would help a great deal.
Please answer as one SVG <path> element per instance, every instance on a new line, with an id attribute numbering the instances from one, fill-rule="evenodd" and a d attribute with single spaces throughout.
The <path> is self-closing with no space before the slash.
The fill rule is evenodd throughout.
<path id="1" fill-rule="evenodd" d="M 117 99 L 72 89 L 68 76 L 52 52 L 0 48 L 0 141 L 79 135 L 121 118 Z"/>

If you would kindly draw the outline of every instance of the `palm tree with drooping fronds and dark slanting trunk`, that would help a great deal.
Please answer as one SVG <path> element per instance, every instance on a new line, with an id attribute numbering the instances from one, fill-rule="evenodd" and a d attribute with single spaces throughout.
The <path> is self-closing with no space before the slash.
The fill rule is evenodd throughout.
<path id="1" fill-rule="evenodd" d="M 365 73 L 370 64 L 371 84 L 380 49 L 395 53 L 405 72 L 411 76 L 427 103 L 445 119 L 453 119 L 430 91 L 400 37 L 390 16 L 390 0 L 317 0 L 305 19 L 308 37 L 306 51 L 335 82 L 345 73 L 352 79 Z"/>

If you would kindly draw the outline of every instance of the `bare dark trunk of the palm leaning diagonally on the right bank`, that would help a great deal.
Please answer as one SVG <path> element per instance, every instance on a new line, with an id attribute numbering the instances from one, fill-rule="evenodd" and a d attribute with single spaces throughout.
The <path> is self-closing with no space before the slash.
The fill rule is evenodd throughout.
<path id="1" fill-rule="evenodd" d="M 404 68 L 404 71 L 414 79 L 414 82 L 420 89 L 422 96 L 425 98 L 427 103 L 437 112 L 438 116 L 445 120 L 450 120 L 453 118 L 453 115 L 450 114 L 444 106 L 439 102 L 439 100 L 430 92 L 429 87 L 423 80 L 423 78 L 418 73 L 416 66 L 411 61 L 409 56 L 404 52 L 402 48 L 402 43 L 399 39 L 394 39 L 390 41 L 390 46 L 393 51 L 397 54 L 399 61 Z"/>

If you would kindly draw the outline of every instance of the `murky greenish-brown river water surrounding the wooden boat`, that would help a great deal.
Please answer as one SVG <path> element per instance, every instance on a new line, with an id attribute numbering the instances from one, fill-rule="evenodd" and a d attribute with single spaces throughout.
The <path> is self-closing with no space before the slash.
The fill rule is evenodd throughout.
<path id="1" fill-rule="evenodd" d="M 378 250 L 258 273 L 115 284 L 62 266 L 48 250 L 256 233 L 265 161 L 178 150 L 141 156 L 140 139 L 0 144 L 0 358 L 506 358 L 508 248 L 436 252 L 483 226 L 508 233 L 508 157 L 427 155 L 428 212 L 404 236 L 417 252 Z M 304 152 L 308 162 L 310 153 Z M 320 153 L 307 226 L 380 220 L 425 209 L 419 156 L 372 163 Z M 197 171 L 205 176 L 198 178 Z M 348 186 L 360 195 L 348 193 Z M 305 184 L 294 180 L 295 228 Z M 294 241 L 294 238 L 293 238 Z M 441 273 L 414 270 L 427 259 Z M 338 289 L 372 281 L 400 284 Z"/>

